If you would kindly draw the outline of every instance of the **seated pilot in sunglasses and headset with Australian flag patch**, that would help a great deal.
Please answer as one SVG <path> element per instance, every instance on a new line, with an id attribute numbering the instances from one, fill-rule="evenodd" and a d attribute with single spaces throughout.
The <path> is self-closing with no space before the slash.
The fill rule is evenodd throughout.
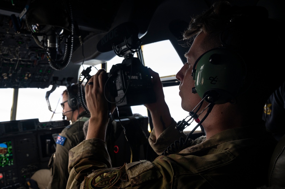
<path id="1" fill-rule="evenodd" d="M 48 165 L 50 169 L 40 169 L 31 177 L 40 189 L 66 188 L 69 176 L 68 151 L 85 139 L 83 124 L 90 118 L 88 111 L 84 110 L 80 103 L 80 100 L 86 101 L 84 86 L 82 89 L 83 97 L 78 95 L 78 90 L 81 90 L 78 84 L 67 86 L 62 93 L 62 115 L 70 121 L 70 125 L 66 126 L 58 136 L 56 151 Z"/>

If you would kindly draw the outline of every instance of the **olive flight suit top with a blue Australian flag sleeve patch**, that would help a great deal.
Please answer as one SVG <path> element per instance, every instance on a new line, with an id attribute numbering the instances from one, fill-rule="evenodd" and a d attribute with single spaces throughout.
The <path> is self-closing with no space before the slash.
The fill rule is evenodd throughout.
<path id="1" fill-rule="evenodd" d="M 83 141 L 83 124 L 87 121 L 90 115 L 85 112 L 79 115 L 80 121 L 77 119 L 71 125 L 66 126 L 60 133 L 60 137 L 65 140 L 62 144 L 56 144 L 56 151 L 50 158 L 49 167 L 51 170 L 51 180 L 48 183 L 47 188 L 66 188 L 68 180 L 68 151 Z M 78 128 L 80 125 L 80 128 Z M 80 130 L 80 141 L 78 139 L 78 130 Z"/>

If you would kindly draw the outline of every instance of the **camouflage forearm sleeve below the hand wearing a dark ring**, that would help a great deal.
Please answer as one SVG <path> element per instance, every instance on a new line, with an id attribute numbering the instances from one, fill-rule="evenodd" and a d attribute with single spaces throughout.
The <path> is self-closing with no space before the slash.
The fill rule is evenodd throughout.
<path id="1" fill-rule="evenodd" d="M 66 189 L 79 188 L 85 176 L 93 170 L 110 167 L 111 159 L 106 142 L 98 138 L 84 140 L 69 150 L 69 178 Z"/>

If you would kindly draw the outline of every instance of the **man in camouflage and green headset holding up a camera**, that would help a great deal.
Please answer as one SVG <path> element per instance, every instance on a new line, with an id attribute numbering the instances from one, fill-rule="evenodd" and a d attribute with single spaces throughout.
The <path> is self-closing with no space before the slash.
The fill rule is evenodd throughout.
<path id="1" fill-rule="evenodd" d="M 107 73 L 98 70 L 86 87 L 91 113 L 86 140 L 69 151 L 67 188 L 264 186 L 277 141 L 266 131 L 263 106 L 284 80 L 281 69 L 269 79 L 264 76 L 269 65 L 260 66 L 278 62 L 278 55 L 284 52 L 278 45 L 281 38 L 276 40 L 281 30 L 262 40 L 278 26 L 267 17 L 262 7 L 235 7 L 223 1 L 193 18 L 184 32 L 184 40 L 195 39 L 185 54 L 187 63 L 176 74 L 181 106 L 195 118 L 199 114 L 206 138 L 188 140 L 175 129 L 159 74 L 149 69 L 157 99 L 145 105 L 154 125 L 149 142 L 161 153 L 157 146 L 169 145 L 180 136 L 186 138 L 182 149 L 164 153 L 153 162 L 141 160 L 111 167 L 105 142 Z"/>

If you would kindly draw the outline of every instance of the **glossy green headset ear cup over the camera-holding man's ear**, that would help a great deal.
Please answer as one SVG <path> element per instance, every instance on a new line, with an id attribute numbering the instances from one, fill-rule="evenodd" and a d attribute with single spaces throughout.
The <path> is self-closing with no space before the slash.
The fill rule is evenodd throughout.
<path id="1" fill-rule="evenodd" d="M 191 76 L 195 87 L 192 92 L 209 103 L 235 103 L 245 75 L 245 63 L 237 53 L 227 47 L 214 48 L 203 53 L 194 63 Z"/>

